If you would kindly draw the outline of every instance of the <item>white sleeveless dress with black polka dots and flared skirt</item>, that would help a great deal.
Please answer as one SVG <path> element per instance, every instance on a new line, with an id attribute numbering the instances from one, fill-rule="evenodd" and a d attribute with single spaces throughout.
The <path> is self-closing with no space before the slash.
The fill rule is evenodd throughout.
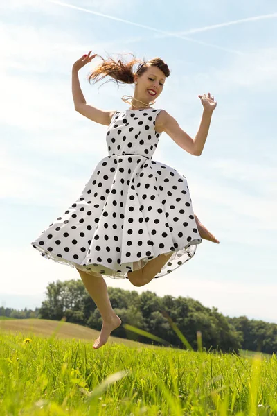
<path id="1" fill-rule="evenodd" d="M 155 277 L 190 260 L 202 242 L 186 177 L 152 160 L 161 110 L 115 112 L 107 129 L 108 155 L 80 198 L 31 244 L 46 259 L 103 277 L 127 278 L 171 252 Z"/>

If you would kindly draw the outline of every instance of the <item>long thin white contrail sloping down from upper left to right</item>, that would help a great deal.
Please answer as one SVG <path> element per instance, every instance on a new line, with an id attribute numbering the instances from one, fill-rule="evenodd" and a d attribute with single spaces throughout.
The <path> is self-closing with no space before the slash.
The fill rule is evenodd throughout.
<path id="1" fill-rule="evenodd" d="M 237 55 L 244 55 L 244 53 L 242 53 L 240 51 L 235 51 L 234 49 L 224 48 L 223 46 L 218 46 L 218 45 L 214 45 L 214 44 L 209 44 L 209 43 L 206 43 L 206 42 L 202 42 L 200 40 L 191 39 L 190 37 L 186 37 L 184 35 L 179 35 L 178 33 L 170 33 L 170 32 L 166 32 L 166 31 L 161 31 L 160 29 L 152 28 L 151 26 L 145 26 L 144 24 L 134 23 L 134 21 L 120 19 L 119 17 L 114 17 L 114 16 L 106 15 L 106 14 L 100 13 L 100 12 L 94 12 L 94 11 L 89 10 L 87 8 L 82 8 L 82 7 L 78 7 L 78 6 L 73 6 L 72 4 L 63 3 L 62 1 L 56 1 L 56 0 L 46 0 L 46 1 L 48 1 L 49 3 L 58 4 L 60 6 L 74 8 L 75 10 L 80 10 L 82 12 L 91 13 L 91 15 L 97 15 L 97 16 L 105 17 L 106 19 L 112 19 L 112 20 L 116 20 L 116 21 L 122 21 L 123 23 L 130 24 L 132 26 L 138 26 L 139 28 L 148 29 L 149 31 L 152 31 L 152 32 L 161 33 L 161 35 L 165 35 L 166 37 L 170 37 L 170 36 L 172 36 L 172 37 L 178 37 L 179 39 L 188 40 L 188 42 L 195 42 L 197 44 L 202 44 L 204 46 L 210 46 L 211 48 L 222 49 L 222 51 L 236 53 Z M 197 31 L 199 31 L 199 30 L 197 30 Z"/>

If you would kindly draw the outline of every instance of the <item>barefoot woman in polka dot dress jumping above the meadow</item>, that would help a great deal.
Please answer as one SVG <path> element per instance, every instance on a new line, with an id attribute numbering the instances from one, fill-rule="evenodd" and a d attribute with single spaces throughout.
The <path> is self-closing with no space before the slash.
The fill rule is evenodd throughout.
<path id="1" fill-rule="evenodd" d="M 95 349 L 121 324 L 103 275 L 143 286 L 190 260 L 202 239 L 219 243 L 193 213 L 186 177 L 152 160 L 163 131 L 191 155 L 201 155 L 214 97 L 199 96 L 204 112 L 192 139 L 168 112 L 152 108 L 170 75 L 163 60 L 140 63 L 134 73 L 132 67 L 141 62 L 134 55 L 127 63 L 100 57 L 89 82 L 110 76 L 116 83 L 134 83 L 135 89 L 134 97 L 123 96 L 131 104 L 127 110 L 99 110 L 87 104 L 78 79 L 79 69 L 96 55 L 89 51 L 73 64 L 72 94 L 76 111 L 108 126 L 109 155 L 97 164 L 80 198 L 32 242 L 46 259 L 80 273 L 103 320 Z"/>

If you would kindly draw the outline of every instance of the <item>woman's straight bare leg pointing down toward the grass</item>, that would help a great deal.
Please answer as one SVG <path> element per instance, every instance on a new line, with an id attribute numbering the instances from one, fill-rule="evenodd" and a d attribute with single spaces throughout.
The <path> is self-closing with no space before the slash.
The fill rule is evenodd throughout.
<path id="1" fill-rule="evenodd" d="M 107 284 L 102 275 L 96 272 L 91 275 L 79 270 L 78 268 L 76 269 L 80 274 L 84 287 L 89 292 L 89 295 L 91 295 L 100 311 L 100 315 L 102 316 L 103 323 L 100 336 L 93 344 L 93 348 L 98 349 L 107 343 L 111 331 L 120 327 L 121 320 L 111 307 L 111 302 L 107 292 Z"/>

